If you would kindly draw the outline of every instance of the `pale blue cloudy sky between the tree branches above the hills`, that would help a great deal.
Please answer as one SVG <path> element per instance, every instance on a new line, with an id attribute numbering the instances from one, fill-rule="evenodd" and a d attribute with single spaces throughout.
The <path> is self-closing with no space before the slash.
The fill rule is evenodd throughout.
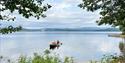
<path id="1" fill-rule="evenodd" d="M 79 28 L 79 27 L 97 27 L 95 23 L 99 19 L 99 11 L 87 12 L 78 7 L 78 4 L 82 0 L 45 0 L 45 4 L 48 3 L 52 5 L 52 8 L 49 9 L 45 14 L 46 18 L 23 18 L 18 15 L 17 12 L 11 14 L 11 16 L 16 16 L 15 21 L 1 22 L 1 26 L 8 25 L 21 25 L 23 27 L 31 28 L 42 28 L 42 27 L 53 27 L 53 28 Z M 6 12 L 3 12 L 6 14 Z"/>

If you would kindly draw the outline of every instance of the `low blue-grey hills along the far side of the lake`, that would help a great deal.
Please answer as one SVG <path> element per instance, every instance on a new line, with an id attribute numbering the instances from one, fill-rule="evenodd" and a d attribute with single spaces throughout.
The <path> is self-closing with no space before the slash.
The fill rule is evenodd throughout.
<path id="1" fill-rule="evenodd" d="M 117 28 L 107 27 L 81 27 L 81 28 L 22 28 L 22 31 L 120 31 Z"/>

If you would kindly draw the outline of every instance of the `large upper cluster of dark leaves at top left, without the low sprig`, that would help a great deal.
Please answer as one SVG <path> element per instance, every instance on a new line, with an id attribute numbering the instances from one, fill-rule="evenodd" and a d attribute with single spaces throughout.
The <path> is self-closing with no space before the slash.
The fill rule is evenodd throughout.
<path id="1" fill-rule="evenodd" d="M 44 12 L 46 12 L 51 6 L 49 4 L 42 5 L 43 0 L 0 0 L 0 12 L 9 10 L 13 13 L 15 10 L 25 18 L 31 16 L 36 17 L 37 19 L 45 17 Z M 4 20 L 6 15 L 0 14 L 0 19 Z"/>

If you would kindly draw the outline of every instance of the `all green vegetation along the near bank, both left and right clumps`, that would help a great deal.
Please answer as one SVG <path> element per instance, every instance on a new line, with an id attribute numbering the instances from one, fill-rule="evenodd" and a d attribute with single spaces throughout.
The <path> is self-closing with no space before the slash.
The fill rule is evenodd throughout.
<path id="1" fill-rule="evenodd" d="M 27 57 L 20 55 L 14 60 L 4 56 L 0 56 L 2 63 L 84 63 L 76 62 L 73 57 L 60 58 L 59 54 L 51 53 L 50 50 L 45 50 L 43 54 L 34 53 L 33 56 Z M 103 55 L 99 60 L 90 60 L 87 63 L 125 63 L 125 56 L 123 55 Z"/>

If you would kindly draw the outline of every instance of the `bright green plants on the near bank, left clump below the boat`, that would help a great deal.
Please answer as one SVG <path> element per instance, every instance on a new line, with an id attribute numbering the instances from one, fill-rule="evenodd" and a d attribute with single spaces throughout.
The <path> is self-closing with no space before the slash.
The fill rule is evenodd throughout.
<path id="1" fill-rule="evenodd" d="M 49 51 L 49 50 L 46 50 L 46 51 Z M 0 59 L 3 59 L 3 57 Z M 43 55 L 34 53 L 33 57 L 20 56 L 18 60 L 15 62 L 7 61 L 7 63 L 16 63 L 16 62 L 17 63 L 74 63 L 72 57 L 65 57 L 63 60 L 63 59 L 60 59 L 60 57 L 56 54 L 52 55 L 51 52 L 50 53 L 44 52 Z"/>

